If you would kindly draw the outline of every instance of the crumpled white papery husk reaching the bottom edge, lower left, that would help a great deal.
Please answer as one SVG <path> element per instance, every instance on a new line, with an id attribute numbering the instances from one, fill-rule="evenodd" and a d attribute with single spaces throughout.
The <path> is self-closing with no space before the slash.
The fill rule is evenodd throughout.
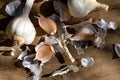
<path id="1" fill-rule="evenodd" d="M 40 64 L 39 62 L 34 62 L 34 57 L 35 57 L 35 54 L 24 56 L 22 64 L 25 68 L 28 68 L 31 73 L 33 73 L 32 80 L 39 80 L 41 77 L 43 65 Z"/>

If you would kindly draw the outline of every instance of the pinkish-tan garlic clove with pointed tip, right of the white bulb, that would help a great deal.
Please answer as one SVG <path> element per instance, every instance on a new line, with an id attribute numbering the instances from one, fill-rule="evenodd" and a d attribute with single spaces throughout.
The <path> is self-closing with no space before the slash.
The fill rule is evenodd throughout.
<path id="1" fill-rule="evenodd" d="M 57 25 L 50 18 L 38 18 L 38 23 L 47 34 L 54 35 L 57 32 Z"/>

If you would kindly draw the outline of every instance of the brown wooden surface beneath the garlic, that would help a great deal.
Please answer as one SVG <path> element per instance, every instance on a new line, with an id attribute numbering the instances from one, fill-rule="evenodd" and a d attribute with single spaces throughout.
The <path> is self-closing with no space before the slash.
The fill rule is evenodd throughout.
<path id="1" fill-rule="evenodd" d="M 12 0 L 0 0 L 0 8 L 10 1 Z M 82 55 L 76 55 L 75 52 L 71 51 L 72 55 L 76 59 L 93 57 L 95 59 L 95 64 L 88 68 L 80 66 L 80 71 L 77 73 L 70 72 L 63 76 L 41 78 L 40 80 L 120 80 L 120 59 L 112 59 L 112 44 L 120 43 L 120 0 L 99 1 L 108 4 L 110 6 L 110 10 L 107 13 L 103 11 L 93 12 L 88 17 L 92 17 L 93 19 L 104 18 L 106 20 L 114 21 L 118 24 L 118 29 L 116 31 L 108 31 L 108 35 L 106 37 L 106 46 L 102 50 L 91 46 L 85 51 L 85 54 Z M 37 3 L 34 4 L 33 9 L 35 9 L 37 6 Z M 5 17 L 6 16 L 2 13 L 2 11 L 0 11 L 0 19 Z M 0 27 L 1 26 L 2 24 Z M 64 58 L 66 58 L 66 56 L 64 56 Z M 15 61 L 16 60 L 13 60 L 13 57 L 0 55 L 0 80 L 31 79 L 28 77 L 28 74 L 24 68 L 18 68 L 14 66 Z M 66 63 L 70 63 L 69 59 L 66 59 Z M 58 62 L 58 60 L 53 58 L 44 65 L 43 74 L 52 72 L 53 70 L 59 68 L 60 65 L 61 64 Z"/>

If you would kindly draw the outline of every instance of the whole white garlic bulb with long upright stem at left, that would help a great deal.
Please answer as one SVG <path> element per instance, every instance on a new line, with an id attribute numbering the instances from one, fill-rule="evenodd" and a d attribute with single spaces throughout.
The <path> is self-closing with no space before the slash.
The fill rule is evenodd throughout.
<path id="1" fill-rule="evenodd" d="M 23 8 L 23 13 L 10 21 L 6 28 L 8 37 L 10 39 L 14 38 L 14 36 L 19 37 L 23 41 L 21 44 L 31 44 L 36 36 L 34 25 L 29 19 L 29 13 L 33 2 L 34 0 L 27 0 Z M 17 38 L 18 41 L 19 38 Z M 21 42 L 21 40 L 19 42 Z"/>

